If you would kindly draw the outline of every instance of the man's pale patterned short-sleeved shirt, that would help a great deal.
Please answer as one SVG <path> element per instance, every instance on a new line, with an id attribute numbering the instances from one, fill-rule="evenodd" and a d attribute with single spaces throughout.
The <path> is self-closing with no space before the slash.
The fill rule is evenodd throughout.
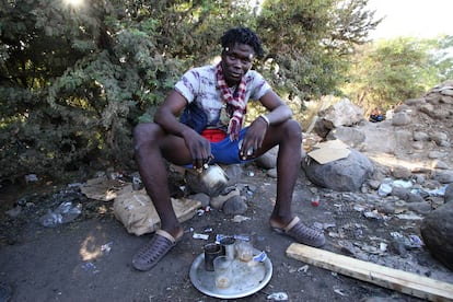
<path id="1" fill-rule="evenodd" d="M 245 77 L 246 103 L 248 100 L 259 100 L 270 90 L 270 85 L 258 72 L 248 70 Z M 230 89 L 233 93 L 236 86 Z M 175 90 L 187 100 L 188 104 L 196 102 L 196 105 L 202 108 L 208 118 L 208 127 L 224 127 L 224 123 L 219 120 L 224 102 L 217 84 L 216 65 L 188 70 L 175 84 Z"/>

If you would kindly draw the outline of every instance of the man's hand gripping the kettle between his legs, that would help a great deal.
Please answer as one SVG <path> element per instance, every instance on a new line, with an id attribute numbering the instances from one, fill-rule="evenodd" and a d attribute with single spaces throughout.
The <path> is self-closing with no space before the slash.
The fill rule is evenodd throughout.
<path id="1" fill-rule="evenodd" d="M 211 143 L 193 129 L 183 132 L 184 141 L 191 154 L 194 169 L 201 169 L 213 158 L 211 154 Z"/>

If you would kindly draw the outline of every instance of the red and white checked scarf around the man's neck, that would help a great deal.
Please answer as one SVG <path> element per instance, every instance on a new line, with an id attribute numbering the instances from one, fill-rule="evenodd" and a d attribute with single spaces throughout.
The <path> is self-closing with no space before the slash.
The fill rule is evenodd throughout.
<path id="1" fill-rule="evenodd" d="M 232 108 L 231 119 L 228 126 L 228 133 L 230 135 L 231 140 L 236 140 L 239 139 L 239 133 L 244 121 L 244 116 L 247 112 L 247 105 L 245 104 L 245 77 L 242 77 L 241 83 L 239 84 L 233 96 L 223 77 L 221 62 L 219 62 L 216 67 L 216 76 L 217 83 L 222 91 L 223 101 L 225 101 L 226 104 Z"/>

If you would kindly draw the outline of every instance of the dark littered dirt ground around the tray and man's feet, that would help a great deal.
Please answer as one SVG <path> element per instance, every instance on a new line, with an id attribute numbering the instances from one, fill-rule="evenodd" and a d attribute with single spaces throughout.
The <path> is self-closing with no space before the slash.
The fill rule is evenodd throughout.
<path id="1" fill-rule="evenodd" d="M 292 241 L 272 232 L 268 224 L 276 181 L 248 165 L 241 183 L 253 188 L 244 213 L 249 219 L 234 222 L 232 217 L 217 210 L 195 216 L 184 222 L 183 241 L 148 272 L 135 270 L 130 260 L 151 235 L 128 234 L 115 219 L 112 201 L 80 197 L 83 211 L 73 222 L 44 228 L 39 217 L 55 207 L 50 193 L 61 188 L 43 184 L 21 188 L 3 186 L 0 188 L 0 282 L 12 288 L 11 301 L 218 301 L 191 284 L 190 265 L 216 234 L 247 234 L 257 249 L 267 253 L 272 276 L 260 291 L 237 301 L 270 301 L 268 297 L 279 292 L 286 293 L 288 301 L 421 301 L 288 257 L 286 249 Z M 314 189 L 321 195 L 318 207 L 310 201 Z M 417 233 L 417 221 L 364 218 L 352 209 L 355 202 L 347 196 L 313 187 L 301 171 L 293 209 L 309 225 L 332 225 L 325 230 L 324 249 L 348 255 L 337 237 L 327 235 L 339 229 L 349 230 L 342 240 L 369 245 L 374 244 L 375 237 L 390 242 L 392 230 Z M 25 197 L 25 205 L 21 197 Z M 22 204 L 22 211 L 15 218 L 7 216 L 5 210 L 18 202 Z M 357 228 L 345 226 L 351 222 Z M 194 239 L 194 233 L 209 234 L 209 240 Z M 452 282 L 453 274 L 423 248 L 407 253 L 403 257 L 388 248 L 385 253 L 369 253 L 367 257 L 370 262 Z"/>

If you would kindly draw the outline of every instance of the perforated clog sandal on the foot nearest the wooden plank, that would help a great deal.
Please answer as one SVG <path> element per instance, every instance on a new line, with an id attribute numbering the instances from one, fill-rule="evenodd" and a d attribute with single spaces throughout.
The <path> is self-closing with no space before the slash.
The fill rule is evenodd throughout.
<path id="1" fill-rule="evenodd" d="M 272 226 L 274 231 L 284 234 L 306 245 L 321 247 L 326 243 L 323 232 L 313 230 L 301 222 L 299 217 L 294 217 L 283 229 Z"/>

